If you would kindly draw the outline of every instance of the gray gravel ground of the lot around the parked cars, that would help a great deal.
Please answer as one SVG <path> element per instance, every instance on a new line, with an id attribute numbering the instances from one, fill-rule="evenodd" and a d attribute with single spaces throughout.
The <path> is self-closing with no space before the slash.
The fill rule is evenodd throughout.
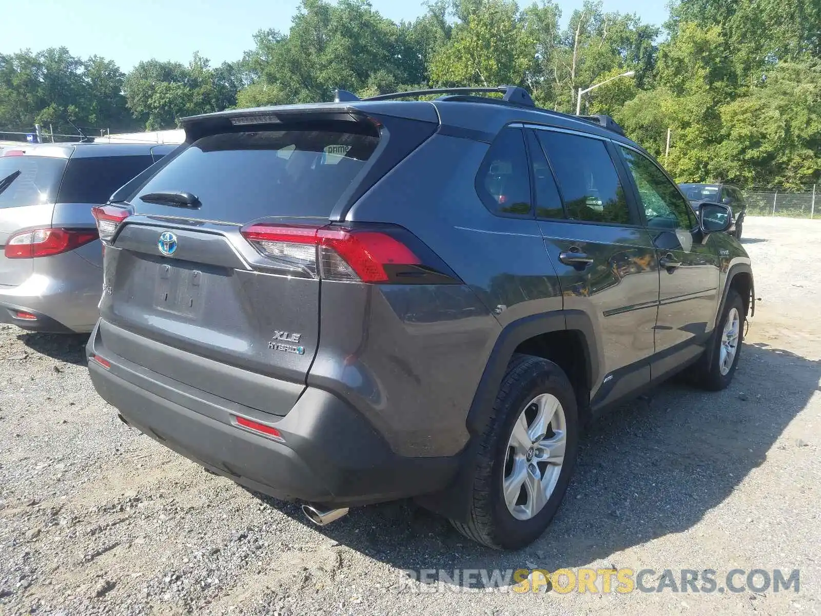
<path id="1" fill-rule="evenodd" d="M 0 326 L 0 614 L 819 614 L 821 221 L 745 234 L 761 299 L 732 387 L 665 384 L 595 425 L 553 526 L 518 553 L 410 503 L 318 530 L 117 421 L 82 337 Z M 650 586 L 797 568 L 800 591 L 520 595 L 401 572 L 562 567 L 650 568 Z"/>

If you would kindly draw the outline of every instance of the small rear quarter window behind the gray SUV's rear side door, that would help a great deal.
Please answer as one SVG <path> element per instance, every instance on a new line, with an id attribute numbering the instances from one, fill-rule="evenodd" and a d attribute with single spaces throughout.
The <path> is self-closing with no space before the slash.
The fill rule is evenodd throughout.
<path id="1" fill-rule="evenodd" d="M 525 138 L 518 128 L 503 129 L 476 174 L 476 191 L 493 214 L 530 216 L 530 175 Z"/>

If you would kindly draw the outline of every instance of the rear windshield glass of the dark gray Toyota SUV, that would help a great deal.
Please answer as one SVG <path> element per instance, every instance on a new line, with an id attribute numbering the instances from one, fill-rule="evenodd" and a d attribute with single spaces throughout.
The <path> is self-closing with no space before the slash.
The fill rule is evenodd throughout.
<path id="1" fill-rule="evenodd" d="M 247 131 L 203 137 L 140 187 L 187 191 L 212 219 L 267 215 L 328 218 L 378 145 L 378 136 L 336 131 Z"/>

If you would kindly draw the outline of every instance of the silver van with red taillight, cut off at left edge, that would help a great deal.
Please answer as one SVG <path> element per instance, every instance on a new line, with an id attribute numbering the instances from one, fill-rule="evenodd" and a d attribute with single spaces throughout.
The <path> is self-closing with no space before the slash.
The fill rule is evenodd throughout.
<path id="1" fill-rule="evenodd" d="M 91 208 L 172 149 L 21 144 L 2 152 L 0 323 L 91 331 L 103 285 L 103 247 Z"/>

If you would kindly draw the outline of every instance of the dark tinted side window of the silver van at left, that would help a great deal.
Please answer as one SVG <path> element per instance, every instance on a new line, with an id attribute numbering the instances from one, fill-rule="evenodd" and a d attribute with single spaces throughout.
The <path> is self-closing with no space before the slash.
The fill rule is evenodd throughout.
<path id="1" fill-rule="evenodd" d="M 105 203 L 114 191 L 154 162 L 144 156 L 98 156 L 68 161 L 60 203 Z"/>

